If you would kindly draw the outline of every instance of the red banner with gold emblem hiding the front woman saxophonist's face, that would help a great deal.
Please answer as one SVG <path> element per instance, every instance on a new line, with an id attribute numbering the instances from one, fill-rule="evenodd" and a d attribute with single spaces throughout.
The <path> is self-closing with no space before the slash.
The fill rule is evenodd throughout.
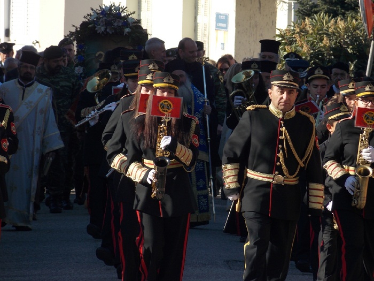
<path id="1" fill-rule="evenodd" d="M 171 118 L 181 118 L 182 101 L 181 97 L 152 96 L 152 116 L 164 117 L 169 114 Z"/>

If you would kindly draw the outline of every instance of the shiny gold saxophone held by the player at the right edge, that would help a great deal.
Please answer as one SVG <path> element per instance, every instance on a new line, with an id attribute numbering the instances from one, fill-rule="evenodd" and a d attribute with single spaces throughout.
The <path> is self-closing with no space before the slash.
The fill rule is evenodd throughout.
<path id="1" fill-rule="evenodd" d="M 357 152 L 356 164 L 356 185 L 355 192 L 352 197 L 352 206 L 358 209 L 363 209 L 366 203 L 366 194 L 368 191 L 369 178 L 373 175 L 373 169 L 370 167 L 370 162 L 365 160 L 362 155 L 362 149 L 369 147 L 369 134 L 372 128 L 365 128 L 364 132 L 360 134 Z"/>

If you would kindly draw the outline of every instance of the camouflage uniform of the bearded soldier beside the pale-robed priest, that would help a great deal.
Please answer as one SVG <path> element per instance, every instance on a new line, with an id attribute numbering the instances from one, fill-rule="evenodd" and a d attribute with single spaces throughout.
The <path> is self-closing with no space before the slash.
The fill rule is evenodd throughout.
<path id="1" fill-rule="evenodd" d="M 73 189 L 73 158 L 77 147 L 76 132 L 73 124 L 68 121 L 65 114 L 76 100 L 82 85 L 77 75 L 68 67 L 61 67 L 59 73 L 51 75 L 45 70 L 44 64 L 37 68 L 36 77 L 53 85 L 53 98 L 56 102 L 56 120 L 61 134 L 64 148 L 58 150 L 47 176 L 49 194 L 57 200 L 68 200 Z"/>

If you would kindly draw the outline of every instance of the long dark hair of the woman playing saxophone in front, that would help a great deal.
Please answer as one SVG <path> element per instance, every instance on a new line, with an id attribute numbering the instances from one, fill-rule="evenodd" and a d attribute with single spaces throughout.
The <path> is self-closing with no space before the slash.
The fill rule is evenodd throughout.
<path id="1" fill-rule="evenodd" d="M 135 123 L 135 126 L 132 126 L 134 130 L 134 136 L 138 142 L 141 139 L 144 142 L 144 146 L 146 148 L 156 148 L 157 143 L 157 134 L 158 134 L 158 126 L 161 124 L 161 117 L 155 117 L 151 115 L 152 110 L 152 96 L 156 95 L 157 89 L 153 89 L 151 92 L 151 96 L 149 97 L 148 104 L 147 104 L 147 112 L 145 114 L 145 118 L 137 121 L 134 117 L 132 121 Z M 177 90 L 175 90 L 175 96 L 178 96 Z M 136 115 L 135 115 L 136 116 Z M 183 145 L 187 145 L 189 142 L 189 134 L 190 134 L 190 127 L 185 126 L 186 120 L 183 117 L 183 113 L 181 118 L 172 118 L 168 122 L 168 136 L 177 138 L 177 141 Z"/>

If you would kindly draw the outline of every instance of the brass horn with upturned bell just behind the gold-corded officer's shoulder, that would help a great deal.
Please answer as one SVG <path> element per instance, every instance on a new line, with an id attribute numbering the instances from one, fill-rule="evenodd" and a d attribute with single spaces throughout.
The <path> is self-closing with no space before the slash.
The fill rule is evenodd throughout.
<path id="1" fill-rule="evenodd" d="M 250 69 L 243 70 L 242 72 L 239 72 L 236 75 L 234 75 L 233 78 L 231 79 L 231 82 L 235 84 L 240 84 L 241 87 L 243 88 L 243 90 L 236 89 L 229 95 L 230 105 L 238 121 L 240 117 L 242 117 L 243 113 L 247 110 L 248 106 L 257 104 L 256 98 L 255 98 L 254 84 L 251 81 L 251 78 L 254 75 L 255 75 L 255 72 L 253 70 L 250 70 Z M 247 100 L 243 102 L 241 105 L 234 107 L 233 100 L 236 96 L 242 96 L 246 98 Z"/>

